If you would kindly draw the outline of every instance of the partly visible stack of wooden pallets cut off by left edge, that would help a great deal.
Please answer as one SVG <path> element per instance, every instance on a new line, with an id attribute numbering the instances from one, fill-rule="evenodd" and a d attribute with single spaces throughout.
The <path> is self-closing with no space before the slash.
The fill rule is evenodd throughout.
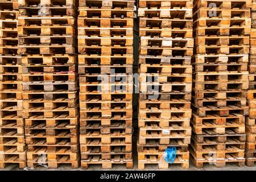
<path id="1" fill-rule="evenodd" d="M 26 167 L 22 68 L 18 56 L 18 1 L 0 1 L 0 168 Z"/>

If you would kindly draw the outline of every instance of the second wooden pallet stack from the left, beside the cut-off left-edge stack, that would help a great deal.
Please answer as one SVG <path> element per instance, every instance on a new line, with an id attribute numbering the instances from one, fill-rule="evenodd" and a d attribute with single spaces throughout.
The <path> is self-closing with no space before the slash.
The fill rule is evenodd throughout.
<path id="1" fill-rule="evenodd" d="M 76 1 L 19 1 L 28 167 L 79 166 Z"/>

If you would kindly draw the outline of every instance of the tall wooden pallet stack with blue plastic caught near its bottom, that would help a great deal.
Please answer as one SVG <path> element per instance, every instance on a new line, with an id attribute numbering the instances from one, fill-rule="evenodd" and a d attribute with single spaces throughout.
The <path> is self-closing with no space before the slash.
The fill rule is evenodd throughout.
<path id="1" fill-rule="evenodd" d="M 168 168 L 171 147 L 174 163 L 189 167 L 192 7 L 191 0 L 139 0 L 139 169 Z"/>

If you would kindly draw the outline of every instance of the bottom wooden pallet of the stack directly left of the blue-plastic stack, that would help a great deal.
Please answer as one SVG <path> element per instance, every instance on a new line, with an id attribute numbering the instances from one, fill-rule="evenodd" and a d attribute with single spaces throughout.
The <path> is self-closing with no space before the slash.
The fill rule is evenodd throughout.
<path id="1" fill-rule="evenodd" d="M 113 164 L 126 164 L 127 169 L 133 168 L 133 160 L 132 159 L 124 159 L 120 155 L 115 155 L 113 159 L 104 160 L 101 159 L 100 156 L 95 155 L 87 160 L 81 160 L 82 169 L 88 169 L 91 164 L 101 164 L 104 169 L 111 169 Z"/>

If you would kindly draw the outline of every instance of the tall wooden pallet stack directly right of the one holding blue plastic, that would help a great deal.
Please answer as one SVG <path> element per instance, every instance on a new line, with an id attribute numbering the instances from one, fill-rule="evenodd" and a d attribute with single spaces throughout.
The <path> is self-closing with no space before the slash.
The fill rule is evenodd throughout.
<path id="1" fill-rule="evenodd" d="M 192 138 L 196 167 L 244 166 L 250 0 L 194 1 Z"/>

